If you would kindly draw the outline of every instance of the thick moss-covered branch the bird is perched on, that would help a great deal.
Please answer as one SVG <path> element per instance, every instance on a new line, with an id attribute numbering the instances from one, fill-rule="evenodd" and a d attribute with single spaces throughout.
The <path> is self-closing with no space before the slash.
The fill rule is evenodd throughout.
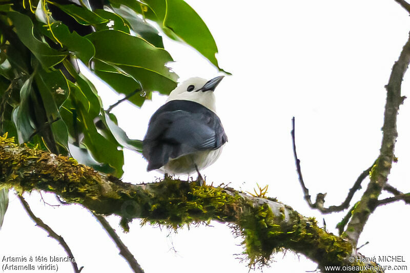
<path id="1" fill-rule="evenodd" d="M 178 228 L 185 224 L 216 220 L 230 223 L 243 237 L 245 259 L 264 265 L 272 254 L 291 249 L 327 265 L 356 265 L 348 262 L 352 244 L 326 233 L 314 218 L 304 217 L 274 199 L 258 198 L 233 188 L 197 186 L 166 177 L 148 184 L 124 183 L 13 139 L 0 137 L 0 188 L 19 193 L 47 191 L 69 203 L 79 203 L 96 214 L 118 215 L 127 232 L 128 223 L 144 222 Z"/>

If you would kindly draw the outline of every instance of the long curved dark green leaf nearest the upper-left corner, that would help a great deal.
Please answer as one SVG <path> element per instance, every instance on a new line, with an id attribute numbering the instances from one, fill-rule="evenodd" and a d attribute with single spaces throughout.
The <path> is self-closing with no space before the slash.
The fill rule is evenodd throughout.
<path id="1" fill-rule="evenodd" d="M 15 11 L 10 11 L 7 14 L 13 21 L 18 38 L 34 54 L 43 67 L 50 68 L 67 56 L 67 53 L 52 49 L 46 43 L 34 37 L 33 23 L 30 17 Z"/>

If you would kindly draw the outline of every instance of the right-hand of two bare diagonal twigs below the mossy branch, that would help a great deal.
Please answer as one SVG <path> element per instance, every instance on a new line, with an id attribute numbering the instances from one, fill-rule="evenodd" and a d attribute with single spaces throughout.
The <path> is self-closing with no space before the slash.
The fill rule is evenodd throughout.
<path id="1" fill-rule="evenodd" d="M 135 273 L 144 273 L 144 270 L 142 270 L 137 260 L 135 260 L 134 256 L 132 255 L 128 247 L 121 241 L 121 239 L 115 233 L 115 230 L 111 227 L 110 223 L 104 218 L 104 216 L 96 214 L 96 213 L 92 213 L 92 214 L 101 224 L 101 226 L 104 227 L 107 234 L 111 237 L 111 239 L 117 245 L 117 248 L 119 249 L 119 255 L 121 255 L 124 259 L 126 259 L 126 261 L 130 265 L 132 270 Z"/>

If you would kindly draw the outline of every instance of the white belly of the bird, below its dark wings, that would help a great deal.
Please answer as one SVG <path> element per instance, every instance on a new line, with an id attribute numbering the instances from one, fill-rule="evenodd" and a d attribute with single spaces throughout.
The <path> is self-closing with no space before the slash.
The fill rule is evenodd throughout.
<path id="1" fill-rule="evenodd" d="M 199 170 L 212 165 L 220 156 L 223 146 L 216 150 L 198 151 L 189 155 L 170 159 L 159 171 L 167 174 L 192 174 L 195 173 L 195 164 Z"/>

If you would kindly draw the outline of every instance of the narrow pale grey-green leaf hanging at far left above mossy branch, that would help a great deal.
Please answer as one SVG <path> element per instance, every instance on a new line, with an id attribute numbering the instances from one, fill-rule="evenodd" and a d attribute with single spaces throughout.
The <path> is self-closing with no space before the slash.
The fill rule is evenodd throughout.
<path id="1" fill-rule="evenodd" d="M 16 125 L 18 142 L 25 143 L 35 130 L 30 113 L 30 95 L 33 76 L 28 78 L 20 89 L 20 104 L 13 110 L 12 119 Z"/>

